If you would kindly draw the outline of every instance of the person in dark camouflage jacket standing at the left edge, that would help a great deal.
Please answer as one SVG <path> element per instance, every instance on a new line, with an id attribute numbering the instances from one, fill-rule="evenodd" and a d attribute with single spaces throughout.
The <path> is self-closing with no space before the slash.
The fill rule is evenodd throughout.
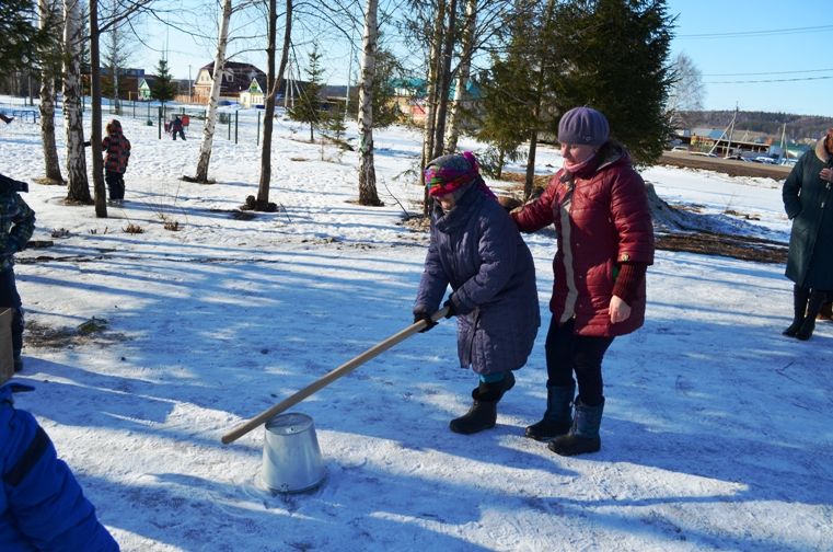
<path id="1" fill-rule="evenodd" d="M 23 309 L 14 281 L 14 254 L 23 251 L 35 231 L 35 211 L 23 200 L 21 192 L 28 192 L 28 184 L 0 174 L 0 309 L 14 310 L 12 349 L 15 371 L 23 367 Z"/>

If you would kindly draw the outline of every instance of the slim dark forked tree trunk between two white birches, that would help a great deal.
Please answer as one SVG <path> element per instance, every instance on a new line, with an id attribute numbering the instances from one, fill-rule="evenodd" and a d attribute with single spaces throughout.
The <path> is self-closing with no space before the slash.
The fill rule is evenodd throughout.
<path id="1" fill-rule="evenodd" d="M 275 123 L 275 97 L 280 90 L 284 80 L 284 71 L 289 60 L 289 46 L 292 37 L 292 0 L 287 0 L 287 24 L 284 32 L 284 49 L 280 55 L 280 67 L 275 74 L 275 41 L 277 34 L 277 7 L 275 0 L 269 0 L 269 45 L 267 55 L 266 76 L 266 105 L 263 118 L 263 149 L 261 150 L 261 183 L 257 186 L 257 202 L 255 208 L 267 210 L 269 208 L 269 186 L 271 183 L 271 133 Z"/>

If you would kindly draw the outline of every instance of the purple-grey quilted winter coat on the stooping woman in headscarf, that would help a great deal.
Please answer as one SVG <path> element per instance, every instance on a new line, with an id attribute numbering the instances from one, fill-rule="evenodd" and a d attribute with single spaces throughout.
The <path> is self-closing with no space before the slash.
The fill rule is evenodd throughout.
<path id="1" fill-rule="evenodd" d="M 527 363 L 541 325 L 535 265 L 509 214 L 476 185 L 448 214 L 435 203 L 414 312 L 435 312 L 451 285 L 460 366 L 477 373 Z"/>

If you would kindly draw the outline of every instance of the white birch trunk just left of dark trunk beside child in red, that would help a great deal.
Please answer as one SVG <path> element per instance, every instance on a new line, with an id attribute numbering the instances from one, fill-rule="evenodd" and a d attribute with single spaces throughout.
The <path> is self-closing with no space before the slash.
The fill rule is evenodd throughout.
<path id="1" fill-rule="evenodd" d="M 81 97 L 81 45 L 84 39 L 80 0 L 63 0 L 63 124 L 67 130 L 67 200 L 90 204 L 84 154 Z"/>

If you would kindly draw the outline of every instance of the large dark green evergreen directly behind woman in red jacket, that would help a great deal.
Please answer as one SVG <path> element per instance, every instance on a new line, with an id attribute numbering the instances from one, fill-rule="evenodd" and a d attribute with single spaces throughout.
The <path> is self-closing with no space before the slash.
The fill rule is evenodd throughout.
<path id="1" fill-rule="evenodd" d="M 552 74 L 555 111 L 592 106 L 637 163 L 659 159 L 671 136 L 664 110 L 673 83 L 671 24 L 662 0 L 560 4 L 553 44 L 565 69 Z"/>

